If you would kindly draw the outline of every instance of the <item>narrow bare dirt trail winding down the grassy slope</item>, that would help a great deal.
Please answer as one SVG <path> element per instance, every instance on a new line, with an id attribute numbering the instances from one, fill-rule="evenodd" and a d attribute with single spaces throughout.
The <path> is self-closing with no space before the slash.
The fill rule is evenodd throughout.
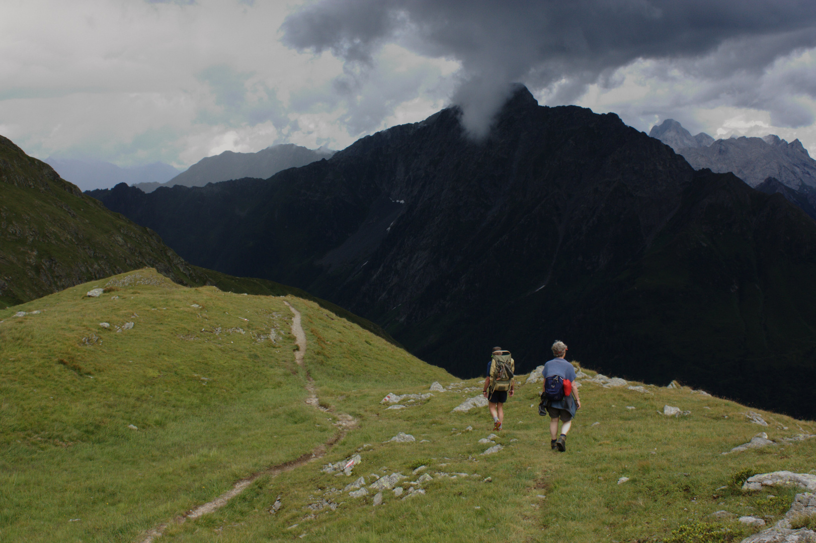
<path id="1" fill-rule="evenodd" d="M 308 369 L 304 364 L 304 357 L 306 355 L 306 334 L 304 333 L 304 329 L 301 324 L 300 311 L 296 310 L 295 307 L 292 307 L 289 302 L 284 303 L 286 304 L 286 307 L 289 307 L 293 315 L 291 331 L 292 335 L 295 336 L 295 345 L 298 347 L 295 351 L 295 363 L 298 364 L 299 368 L 306 370 L 305 388 L 308 392 L 306 403 L 314 408 L 320 409 L 324 413 L 329 413 L 329 409 L 320 404 L 320 400 L 317 398 L 317 387 L 314 385 L 314 380 L 308 373 Z M 244 489 L 255 481 L 255 479 L 258 479 L 262 475 L 272 475 L 273 477 L 276 477 L 285 471 L 294 470 L 296 467 L 303 466 L 309 461 L 323 457 L 332 445 L 345 437 L 348 430 L 353 430 L 353 428 L 357 427 L 357 420 L 350 415 L 340 413 L 337 418 L 338 421 L 335 422 L 335 426 L 337 426 L 339 432 L 331 439 L 326 441 L 326 443 L 317 445 L 317 447 L 312 449 L 311 453 L 305 453 L 300 457 L 295 458 L 295 460 L 290 460 L 282 464 L 278 464 L 277 466 L 269 466 L 265 470 L 261 470 L 253 475 L 250 475 L 249 477 L 246 477 L 246 479 L 239 480 L 233 485 L 233 488 L 227 492 L 224 492 L 219 497 L 215 498 L 215 500 L 199 505 L 195 509 L 189 510 L 175 519 L 172 519 L 170 522 L 159 524 L 157 527 L 145 532 L 144 537 L 140 540 L 140 543 L 153 543 L 157 537 L 162 536 L 166 528 L 171 524 L 181 524 L 187 519 L 197 519 L 207 513 L 212 513 L 213 511 L 224 507 L 224 505 L 227 505 L 229 500 L 243 492 Z"/>

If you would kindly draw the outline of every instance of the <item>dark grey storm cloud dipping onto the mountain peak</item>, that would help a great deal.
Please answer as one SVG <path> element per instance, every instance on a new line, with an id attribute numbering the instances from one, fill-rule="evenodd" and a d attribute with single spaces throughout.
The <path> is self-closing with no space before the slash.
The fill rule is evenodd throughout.
<path id="1" fill-rule="evenodd" d="M 331 51 L 355 69 L 370 65 L 387 42 L 459 60 L 454 100 L 477 135 L 488 130 L 512 82 L 549 88 L 548 103 L 563 104 L 588 84 L 613 84 L 614 70 L 637 59 L 736 84 L 720 91 L 733 93 L 735 105 L 768 108 L 789 126 L 812 119 L 796 104 L 751 91 L 775 60 L 816 45 L 810 0 L 321 0 L 290 15 L 282 30 L 288 46 Z M 809 74 L 782 84 L 814 95 Z"/>

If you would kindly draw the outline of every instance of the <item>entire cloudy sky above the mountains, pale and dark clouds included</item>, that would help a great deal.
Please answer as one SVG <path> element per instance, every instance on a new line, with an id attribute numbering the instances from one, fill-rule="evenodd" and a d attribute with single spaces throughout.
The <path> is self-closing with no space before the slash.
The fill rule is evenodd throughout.
<path id="1" fill-rule="evenodd" d="M 777 134 L 816 155 L 816 9 L 774 0 L 2 0 L 0 135 L 29 154 L 186 167 L 340 149 L 461 104 Z"/>

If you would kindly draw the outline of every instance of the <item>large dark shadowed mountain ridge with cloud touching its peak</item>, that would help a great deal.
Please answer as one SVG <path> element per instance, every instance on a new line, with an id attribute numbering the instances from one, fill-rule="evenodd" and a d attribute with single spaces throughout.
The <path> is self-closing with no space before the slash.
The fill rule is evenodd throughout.
<path id="1" fill-rule="evenodd" d="M 561 338 L 605 372 L 816 413 L 816 224 L 613 113 L 521 88 L 481 143 L 449 108 L 267 180 L 92 194 L 191 262 L 308 289 L 460 376 L 494 344 L 524 372 Z M 789 396 L 754 391 L 769 372 Z"/>

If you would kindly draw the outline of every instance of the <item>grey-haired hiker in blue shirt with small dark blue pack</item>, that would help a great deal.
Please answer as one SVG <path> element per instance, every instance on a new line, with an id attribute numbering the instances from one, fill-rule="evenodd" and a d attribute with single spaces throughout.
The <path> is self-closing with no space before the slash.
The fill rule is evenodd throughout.
<path id="1" fill-rule="evenodd" d="M 575 369 L 564 359 L 566 349 L 564 342 L 557 340 L 552 344 L 552 354 L 556 357 L 544 364 L 541 385 L 542 404 L 550 416 L 550 448 L 557 448 L 561 453 L 566 450 L 566 435 L 570 433 L 575 411 L 581 408 L 578 387 L 572 386 Z M 561 419 L 561 435 L 558 435 L 558 419 Z"/>

